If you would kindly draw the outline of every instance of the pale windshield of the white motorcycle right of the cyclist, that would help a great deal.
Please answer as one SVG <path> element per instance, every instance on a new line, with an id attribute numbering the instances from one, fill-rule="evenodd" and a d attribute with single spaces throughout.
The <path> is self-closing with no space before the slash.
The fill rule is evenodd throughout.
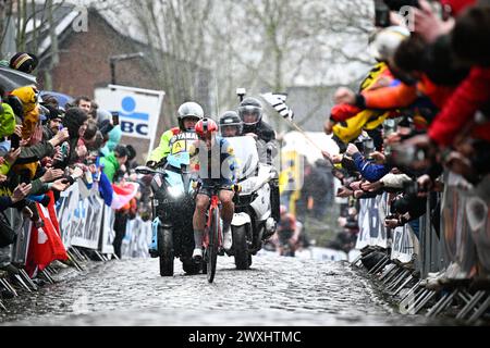
<path id="1" fill-rule="evenodd" d="M 235 152 L 237 169 L 237 178 L 243 181 L 255 176 L 259 163 L 257 144 L 253 137 L 232 137 L 226 138 Z"/>

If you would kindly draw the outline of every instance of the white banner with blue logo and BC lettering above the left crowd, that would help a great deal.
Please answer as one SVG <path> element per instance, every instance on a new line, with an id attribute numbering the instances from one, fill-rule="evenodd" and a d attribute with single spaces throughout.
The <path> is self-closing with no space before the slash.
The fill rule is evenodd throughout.
<path id="1" fill-rule="evenodd" d="M 118 112 L 124 136 L 149 139 L 154 149 L 164 91 L 109 85 L 95 90 L 101 109 Z"/>

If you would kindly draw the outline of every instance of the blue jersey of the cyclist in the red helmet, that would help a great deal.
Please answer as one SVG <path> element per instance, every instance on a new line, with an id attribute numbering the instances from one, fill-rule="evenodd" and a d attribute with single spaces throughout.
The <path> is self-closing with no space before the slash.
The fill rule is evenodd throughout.
<path id="1" fill-rule="evenodd" d="M 196 169 L 199 179 L 206 182 L 218 182 L 234 185 L 237 177 L 237 163 L 233 147 L 222 137 L 216 137 L 216 144 L 211 150 L 194 142 L 189 148 L 193 160 L 197 159 Z"/>

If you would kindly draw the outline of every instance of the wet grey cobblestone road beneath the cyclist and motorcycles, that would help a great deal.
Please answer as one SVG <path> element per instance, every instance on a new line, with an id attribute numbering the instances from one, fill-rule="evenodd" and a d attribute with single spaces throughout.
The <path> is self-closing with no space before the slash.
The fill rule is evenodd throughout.
<path id="1" fill-rule="evenodd" d="M 158 260 L 93 263 L 86 274 L 8 301 L 7 325 L 427 325 L 396 313 L 345 262 L 262 254 L 249 271 L 219 258 L 206 275 L 160 277 Z M 205 315 L 204 315 L 205 314 Z"/>

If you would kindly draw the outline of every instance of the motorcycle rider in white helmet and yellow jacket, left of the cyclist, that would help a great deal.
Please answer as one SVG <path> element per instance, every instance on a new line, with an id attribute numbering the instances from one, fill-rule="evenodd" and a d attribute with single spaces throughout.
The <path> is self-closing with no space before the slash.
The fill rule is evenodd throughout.
<path id="1" fill-rule="evenodd" d="M 163 133 L 160 145 L 148 157 L 147 166 L 154 167 L 159 162 L 164 161 L 171 151 L 171 140 L 174 136 L 194 132 L 194 127 L 199 120 L 204 119 L 203 108 L 193 101 L 185 102 L 179 108 L 179 127 L 172 128 Z"/>

